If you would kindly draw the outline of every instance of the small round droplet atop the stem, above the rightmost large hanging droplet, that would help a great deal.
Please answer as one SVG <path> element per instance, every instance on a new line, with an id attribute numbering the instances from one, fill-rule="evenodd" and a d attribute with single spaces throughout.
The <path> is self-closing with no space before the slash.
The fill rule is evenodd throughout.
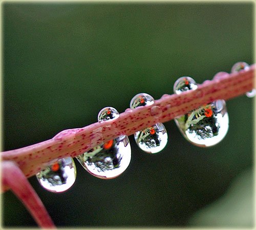
<path id="1" fill-rule="evenodd" d="M 191 77 L 181 77 L 174 83 L 174 93 L 181 94 L 187 90 L 197 89 L 196 81 Z"/>

